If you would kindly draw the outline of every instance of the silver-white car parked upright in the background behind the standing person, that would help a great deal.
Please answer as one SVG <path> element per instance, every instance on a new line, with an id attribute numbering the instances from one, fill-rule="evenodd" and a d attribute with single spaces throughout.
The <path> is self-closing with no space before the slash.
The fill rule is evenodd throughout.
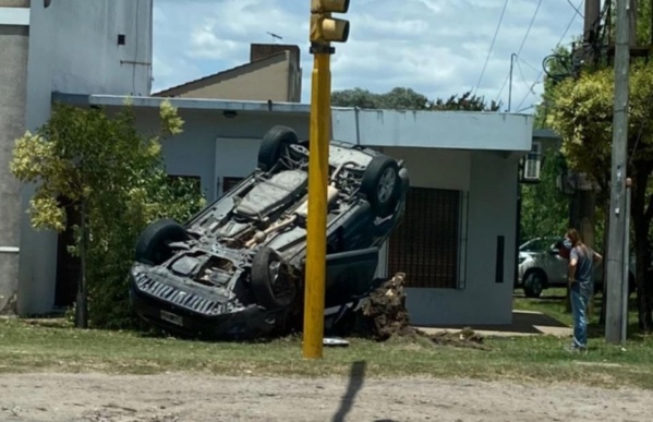
<path id="1" fill-rule="evenodd" d="M 544 289 L 567 287 L 569 261 L 560 255 L 561 237 L 542 237 L 532 239 L 519 248 L 517 286 L 528 298 L 539 298 Z M 594 267 L 594 291 L 603 290 L 602 265 Z M 630 262 L 629 291 L 636 289 L 634 264 Z"/>

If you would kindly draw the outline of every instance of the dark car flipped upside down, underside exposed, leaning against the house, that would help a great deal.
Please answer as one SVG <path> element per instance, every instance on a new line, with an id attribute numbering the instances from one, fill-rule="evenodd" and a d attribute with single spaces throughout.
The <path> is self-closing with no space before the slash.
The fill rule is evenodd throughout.
<path id="1" fill-rule="evenodd" d="M 185 224 L 147 227 L 130 277 L 137 314 L 191 336 L 287 329 L 303 305 L 309 147 L 291 129 L 274 126 L 253 173 Z M 378 249 L 403 216 L 408 188 L 401 161 L 330 142 L 325 308 L 331 315 L 371 291 Z"/>

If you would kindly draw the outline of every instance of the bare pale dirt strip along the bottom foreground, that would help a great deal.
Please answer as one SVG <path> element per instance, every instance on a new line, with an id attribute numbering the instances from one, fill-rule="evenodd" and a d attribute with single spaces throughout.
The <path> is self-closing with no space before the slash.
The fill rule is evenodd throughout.
<path id="1" fill-rule="evenodd" d="M 650 421 L 653 391 L 444 379 L 4 374 L 0 420 Z"/>

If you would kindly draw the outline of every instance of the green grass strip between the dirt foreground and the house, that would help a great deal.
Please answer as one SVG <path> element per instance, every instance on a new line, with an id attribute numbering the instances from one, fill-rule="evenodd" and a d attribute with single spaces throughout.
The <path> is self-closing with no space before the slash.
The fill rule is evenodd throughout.
<path id="1" fill-rule="evenodd" d="M 560 300 L 516 299 L 516 308 L 544 311 L 570 322 Z M 622 351 L 593 338 L 587 355 L 565 352 L 567 341 L 552 336 L 486 338 L 488 350 L 477 350 L 434 346 L 426 339 L 385 343 L 350 339 L 348 348 L 325 348 L 323 360 L 310 361 L 302 358 L 298 337 L 269 343 L 202 342 L 0 319 L 0 373 L 186 371 L 237 376 L 347 376 L 355 362 L 365 362 L 368 377 L 472 377 L 653 389 L 653 339 L 633 338 Z"/>

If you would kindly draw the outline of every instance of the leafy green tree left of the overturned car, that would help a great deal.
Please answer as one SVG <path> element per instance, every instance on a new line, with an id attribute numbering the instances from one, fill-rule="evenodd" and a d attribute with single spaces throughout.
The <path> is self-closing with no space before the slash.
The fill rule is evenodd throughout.
<path id="1" fill-rule="evenodd" d="M 180 133 L 183 121 L 167 101 L 159 114 L 159 133 L 143 136 L 129 106 L 113 117 L 101 109 L 57 106 L 44 126 L 15 143 L 10 169 L 22 182 L 36 184 L 32 225 L 62 231 L 75 215 L 85 221 L 84 255 L 77 225 L 69 250 L 86 264 L 90 323 L 98 327 L 132 322 L 126 275 L 144 227 L 161 217 L 185 219 L 204 204 L 197 186 L 168 180 L 160 142 Z"/>

